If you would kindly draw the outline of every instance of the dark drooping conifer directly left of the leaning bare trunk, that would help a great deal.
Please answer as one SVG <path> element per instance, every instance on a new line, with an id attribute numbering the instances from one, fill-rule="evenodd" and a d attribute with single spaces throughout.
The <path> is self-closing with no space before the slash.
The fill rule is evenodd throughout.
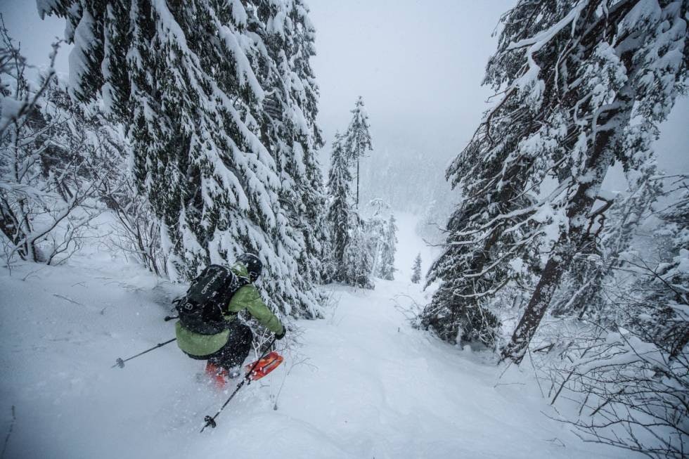
<path id="1" fill-rule="evenodd" d="M 502 89 L 495 60 L 489 63 L 484 84 Z M 523 129 L 542 136 L 546 146 L 554 132 L 536 122 L 541 112 L 528 103 L 526 92 L 511 94 L 484 115 L 468 146 L 446 171 L 451 186 L 461 190 L 462 202 L 446 224 L 444 251 L 427 274 L 426 286 L 441 282 L 418 325 L 452 344 L 495 346 L 500 321 L 491 303 L 503 287 L 524 276 L 510 261 L 527 259 L 535 236 L 527 221 L 536 200 L 536 190 L 528 183 L 537 152 L 521 143 Z M 537 186 L 539 177 L 535 180 Z"/>

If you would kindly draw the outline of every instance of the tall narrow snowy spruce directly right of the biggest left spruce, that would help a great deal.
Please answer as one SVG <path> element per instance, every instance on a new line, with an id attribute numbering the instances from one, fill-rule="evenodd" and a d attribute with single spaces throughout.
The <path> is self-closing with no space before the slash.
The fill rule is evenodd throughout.
<path id="1" fill-rule="evenodd" d="M 292 237 L 300 244 L 299 271 L 307 282 L 321 283 L 326 279 L 329 235 L 316 156 L 323 146 L 316 124 L 318 86 L 309 62 L 315 55 L 315 30 L 301 0 L 260 1 L 257 17 L 249 17 L 249 27 L 252 20 L 265 25 L 262 38 L 271 56 L 264 62 L 270 67 L 264 72 L 262 86 L 271 89 L 263 101 L 262 141 L 278 168 L 281 205 L 297 230 Z M 261 25 L 255 27 L 262 29 Z"/>

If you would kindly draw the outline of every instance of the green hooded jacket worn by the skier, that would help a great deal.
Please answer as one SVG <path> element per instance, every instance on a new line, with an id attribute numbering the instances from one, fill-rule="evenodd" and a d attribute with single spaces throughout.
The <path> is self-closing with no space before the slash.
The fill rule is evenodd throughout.
<path id="1" fill-rule="evenodd" d="M 249 277 L 247 269 L 243 264 L 236 263 L 231 267 L 238 276 Z M 227 306 L 227 311 L 224 311 L 223 316 L 226 321 L 234 321 L 240 311 L 246 309 L 256 318 L 256 320 L 271 332 L 280 334 L 283 332 L 283 324 L 280 323 L 273 312 L 268 309 L 268 306 L 261 299 L 257 288 L 253 284 L 247 284 L 240 287 Z M 177 321 L 175 325 L 175 332 L 177 335 L 177 345 L 179 349 L 191 354 L 193 356 L 207 356 L 219 351 L 223 347 L 229 336 L 230 330 L 224 330 L 216 335 L 201 335 L 184 328 L 181 322 Z"/>

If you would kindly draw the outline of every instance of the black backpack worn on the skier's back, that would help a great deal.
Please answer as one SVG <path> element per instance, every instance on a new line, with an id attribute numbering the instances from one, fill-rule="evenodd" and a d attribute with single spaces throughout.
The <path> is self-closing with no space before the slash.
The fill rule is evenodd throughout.
<path id="1" fill-rule="evenodd" d="M 249 279 L 237 276 L 230 269 L 211 264 L 193 280 L 189 290 L 175 300 L 179 321 L 187 330 L 202 335 L 215 335 L 227 330 L 222 316 L 232 295 Z"/>

